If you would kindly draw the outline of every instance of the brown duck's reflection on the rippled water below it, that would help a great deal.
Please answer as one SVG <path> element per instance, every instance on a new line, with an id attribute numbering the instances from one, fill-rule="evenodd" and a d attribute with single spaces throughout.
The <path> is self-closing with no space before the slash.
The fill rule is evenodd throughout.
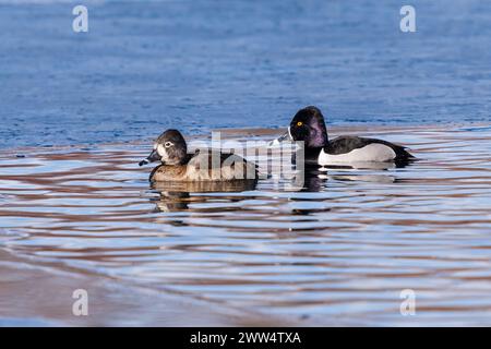
<path id="1" fill-rule="evenodd" d="M 201 181 L 201 182 L 153 182 L 152 188 L 159 192 L 157 209 L 160 212 L 178 212 L 189 208 L 194 202 L 190 193 L 232 193 L 254 190 L 255 180 Z"/>

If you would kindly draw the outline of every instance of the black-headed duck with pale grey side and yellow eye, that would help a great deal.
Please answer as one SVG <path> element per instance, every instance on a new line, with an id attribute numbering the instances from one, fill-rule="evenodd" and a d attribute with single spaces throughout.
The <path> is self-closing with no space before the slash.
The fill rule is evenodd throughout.
<path id="1" fill-rule="evenodd" d="M 327 137 L 324 117 L 321 110 L 310 106 L 300 109 L 288 128 L 288 133 L 276 141 L 286 139 L 303 141 L 306 161 L 318 165 L 355 163 L 395 163 L 404 165 L 414 160 L 404 146 L 375 139 L 339 136 Z"/>

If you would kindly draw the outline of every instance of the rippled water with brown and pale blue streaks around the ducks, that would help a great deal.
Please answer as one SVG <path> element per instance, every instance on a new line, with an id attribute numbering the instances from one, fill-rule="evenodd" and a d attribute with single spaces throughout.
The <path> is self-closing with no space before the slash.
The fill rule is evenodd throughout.
<path id="1" fill-rule="evenodd" d="M 129 285 L 118 291 L 125 296 L 144 288 L 200 300 L 215 324 L 217 309 L 232 309 L 236 324 L 252 325 L 266 314 L 296 325 L 491 325 L 491 129 L 372 132 L 357 130 L 407 144 L 420 160 L 314 170 L 302 188 L 282 191 L 275 177 L 151 186 L 149 169 L 136 164 L 146 144 L 4 151 L 1 280 L 49 264 L 43 273 Z M 62 280 L 36 287 L 71 285 Z M 28 312 L 20 305 L 26 284 L 9 285 L 0 296 L 17 303 L 0 302 L 0 318 L 70 321 Z M 399 314 L 406 288 L 418 317 Z M 99 306 L 110 313 L 109 303 Z M 155 318 L 159 311 L 142 304 L 140 317 Z"/>

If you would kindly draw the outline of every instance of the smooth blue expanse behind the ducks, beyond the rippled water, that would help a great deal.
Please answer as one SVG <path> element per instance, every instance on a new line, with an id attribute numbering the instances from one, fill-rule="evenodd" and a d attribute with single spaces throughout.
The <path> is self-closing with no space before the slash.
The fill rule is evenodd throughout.
<path id="1" fill-rule="evenodd" d="M 0 2 L 0 147 L 148 139 L 166 128 L 490 121 L 491 2 Z"/>

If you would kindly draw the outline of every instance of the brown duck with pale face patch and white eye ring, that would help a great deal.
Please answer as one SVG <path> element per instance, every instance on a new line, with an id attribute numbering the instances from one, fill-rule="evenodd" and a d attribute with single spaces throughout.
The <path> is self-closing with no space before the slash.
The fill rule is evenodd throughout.
<path id="1" fill-rule="evenodd" d="M 223 154 L 219 151 L 188 154 L 188 146 L 182 134 L 177 130 L 167 130 L 154 144 L 153 152 L 140 166 L 161 161 L 154 168 L 149 180 L 154 181 L 232 181 L 255 180 L 258 170 L 254 164 L 248 163 L 235 154 Z"/>

